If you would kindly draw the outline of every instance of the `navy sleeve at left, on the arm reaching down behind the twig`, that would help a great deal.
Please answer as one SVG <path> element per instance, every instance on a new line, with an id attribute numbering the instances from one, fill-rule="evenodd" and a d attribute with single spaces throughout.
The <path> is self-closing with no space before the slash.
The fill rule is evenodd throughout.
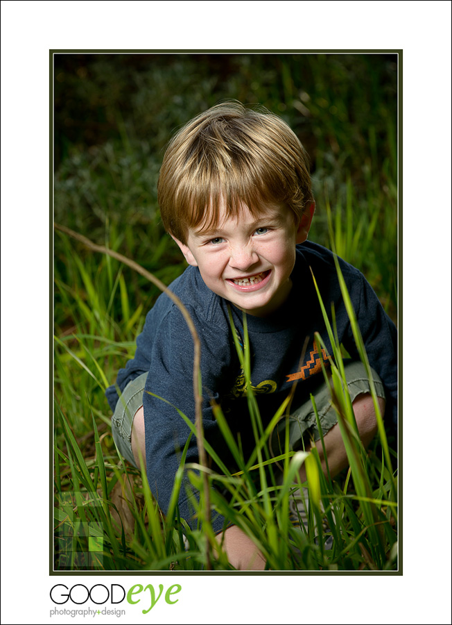
<path id="1" fill-rule="evenodd" d="M 204 435 L 217 451 L 221 447 L 218 444 L 220 431 L 211 408 L 211 399 L 218 400 L 223 392 L 231 350 L 227 333 L 218 332 L 209 324 L 202 324 L 194 314 L 191 316 L 201 342 Z M 164 514 L 171 501 L 182 450 L 191 434 L 178 410 L 193 424 L 195 422 L 193 356 L 193 338 L 182 314 L 173 306 L 155 333 L 144 392 L 148 482 Z M 190 438 L 185 462 L 199 462 L 194 434 Z M 193 490 L 188 478 L 184 476 L 178 500 L 180 516 L 195 528 L 198 521 L 193 516 L 189 491 L 195 499 L 199 499 L 198 492 Z M 216 513 L 212 513 L 211 521 L 214 531 L 220 531 L 225 523 L 225 519 Z"/>

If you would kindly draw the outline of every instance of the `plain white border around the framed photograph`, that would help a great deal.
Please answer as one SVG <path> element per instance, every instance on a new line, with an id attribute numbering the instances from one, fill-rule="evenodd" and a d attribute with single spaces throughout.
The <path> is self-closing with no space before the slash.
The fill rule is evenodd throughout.
<path id="1" fill-rule="evenodd" d="M 47 616 L 48 51 L 119 47 L 403 49 L 404 575 L 184 577 L 183 601 L 148 618 L 450 622 L 450 13 L 445 1 L 2 1 L 2 622 L 79 622 Z M 136 622 L 131 610 L 120 622 Z"/>

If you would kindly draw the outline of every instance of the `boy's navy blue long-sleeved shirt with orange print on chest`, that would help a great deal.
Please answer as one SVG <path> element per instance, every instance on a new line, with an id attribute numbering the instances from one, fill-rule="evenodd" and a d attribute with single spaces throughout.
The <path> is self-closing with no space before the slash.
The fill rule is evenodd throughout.
<path id="1" fill-rule="evenodd" d="M 379 299 L 358 269 L 340 260 L 351 302 L 363 336 L 370 366 L 381 377 L 386 392 L 386 422 L 397 424 L 397 331 L 385 314 Z M 351 358 L 360 360 L 345 304 L 342 300 L 336 266 L 331 251 L 312 243 L 297 246 L 291 274 L 293 288 L 288 300 L 268 317 L 247 315 L 251 352 L 251 382 L 258 399 L 264 426 L 286 399 L 297 382 L 293 406 L 306 401 L 315 385 L 322 381 L 320 358 L 332 354 L 327 329 L 313 283 L 318 284 L 330 322 L 331 305 L 336 317 L 338 340 Z M 228 308 L 236 333 L 243 337 L 243 313 L 209 290 L 197 267 L 188 267 L 171 285 L 171 290 L 189 310 L 201 342 L 202 419 L 205 437 L 225 462 L 232 461 L 214 417 L 211 401 L 220 403 L 229 427 L 240 434 L 244 453 L 252 453 L 254 436 L 247 411 L 243 372 L 234 346 Z M 320 333 L 326 352 L 317 353 L 315 332 Z M 307 339 L 303 362 L 300 362 Z M 144 393 L 146 462 L 150 489 L 163 512 L 168 509 L 180 454 L 190 429 L 176 408 L 195 419 L 193 397 L 193 340 L 180 310 L 162 294 L 146 317 L 137 338 L 137 351 L 117 385 L 121 391 L 140 374 L 148 372 Z M 149 393 L 153 393 L 152 395 Z M 118 395 L 114 386 L 107 389 L 114 410 Z M 155 397 L 158 396 L 158 397 Z M 163 398 L 166 401 L 163 401 Z M 198 462 L 195 437 L 191 437 L 186 462 Z M 180 515 L 192 526 L 192 511 L 184 487 L 181 489 Z M 214 515 L 215 531 L 224 525 Z"/>

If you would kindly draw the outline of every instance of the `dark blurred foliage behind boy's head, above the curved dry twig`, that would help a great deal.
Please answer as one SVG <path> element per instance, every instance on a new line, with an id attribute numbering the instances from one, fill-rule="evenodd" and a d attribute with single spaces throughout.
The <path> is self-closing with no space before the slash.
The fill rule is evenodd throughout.
<path id="1" fill-rule="evenodd" d="M 333 214 L 343 213 L 336 226 L 359 235 L 354 249 L 347 237 L 336 241 L 338 253 L 367 275 L 395 317 L 396 55 L 60 53 L 54 59 L 56 222 L 107 242 L 170 282 L 184 264 L 159 222 L 164 147 L 177 128 L 218 101 L 259 103 L 288 122 L 311 156 L 317 201 L 311 239 L 331 247 L 329 201 Z M 63 282 L 66 253 L 57 238 L 55 269 Z M 152 303 L 153 287 L 124 272 L 136 296 L 131 305 L 144 294 Z M 60 321 L 64 313 L 56 312 Z"/>

